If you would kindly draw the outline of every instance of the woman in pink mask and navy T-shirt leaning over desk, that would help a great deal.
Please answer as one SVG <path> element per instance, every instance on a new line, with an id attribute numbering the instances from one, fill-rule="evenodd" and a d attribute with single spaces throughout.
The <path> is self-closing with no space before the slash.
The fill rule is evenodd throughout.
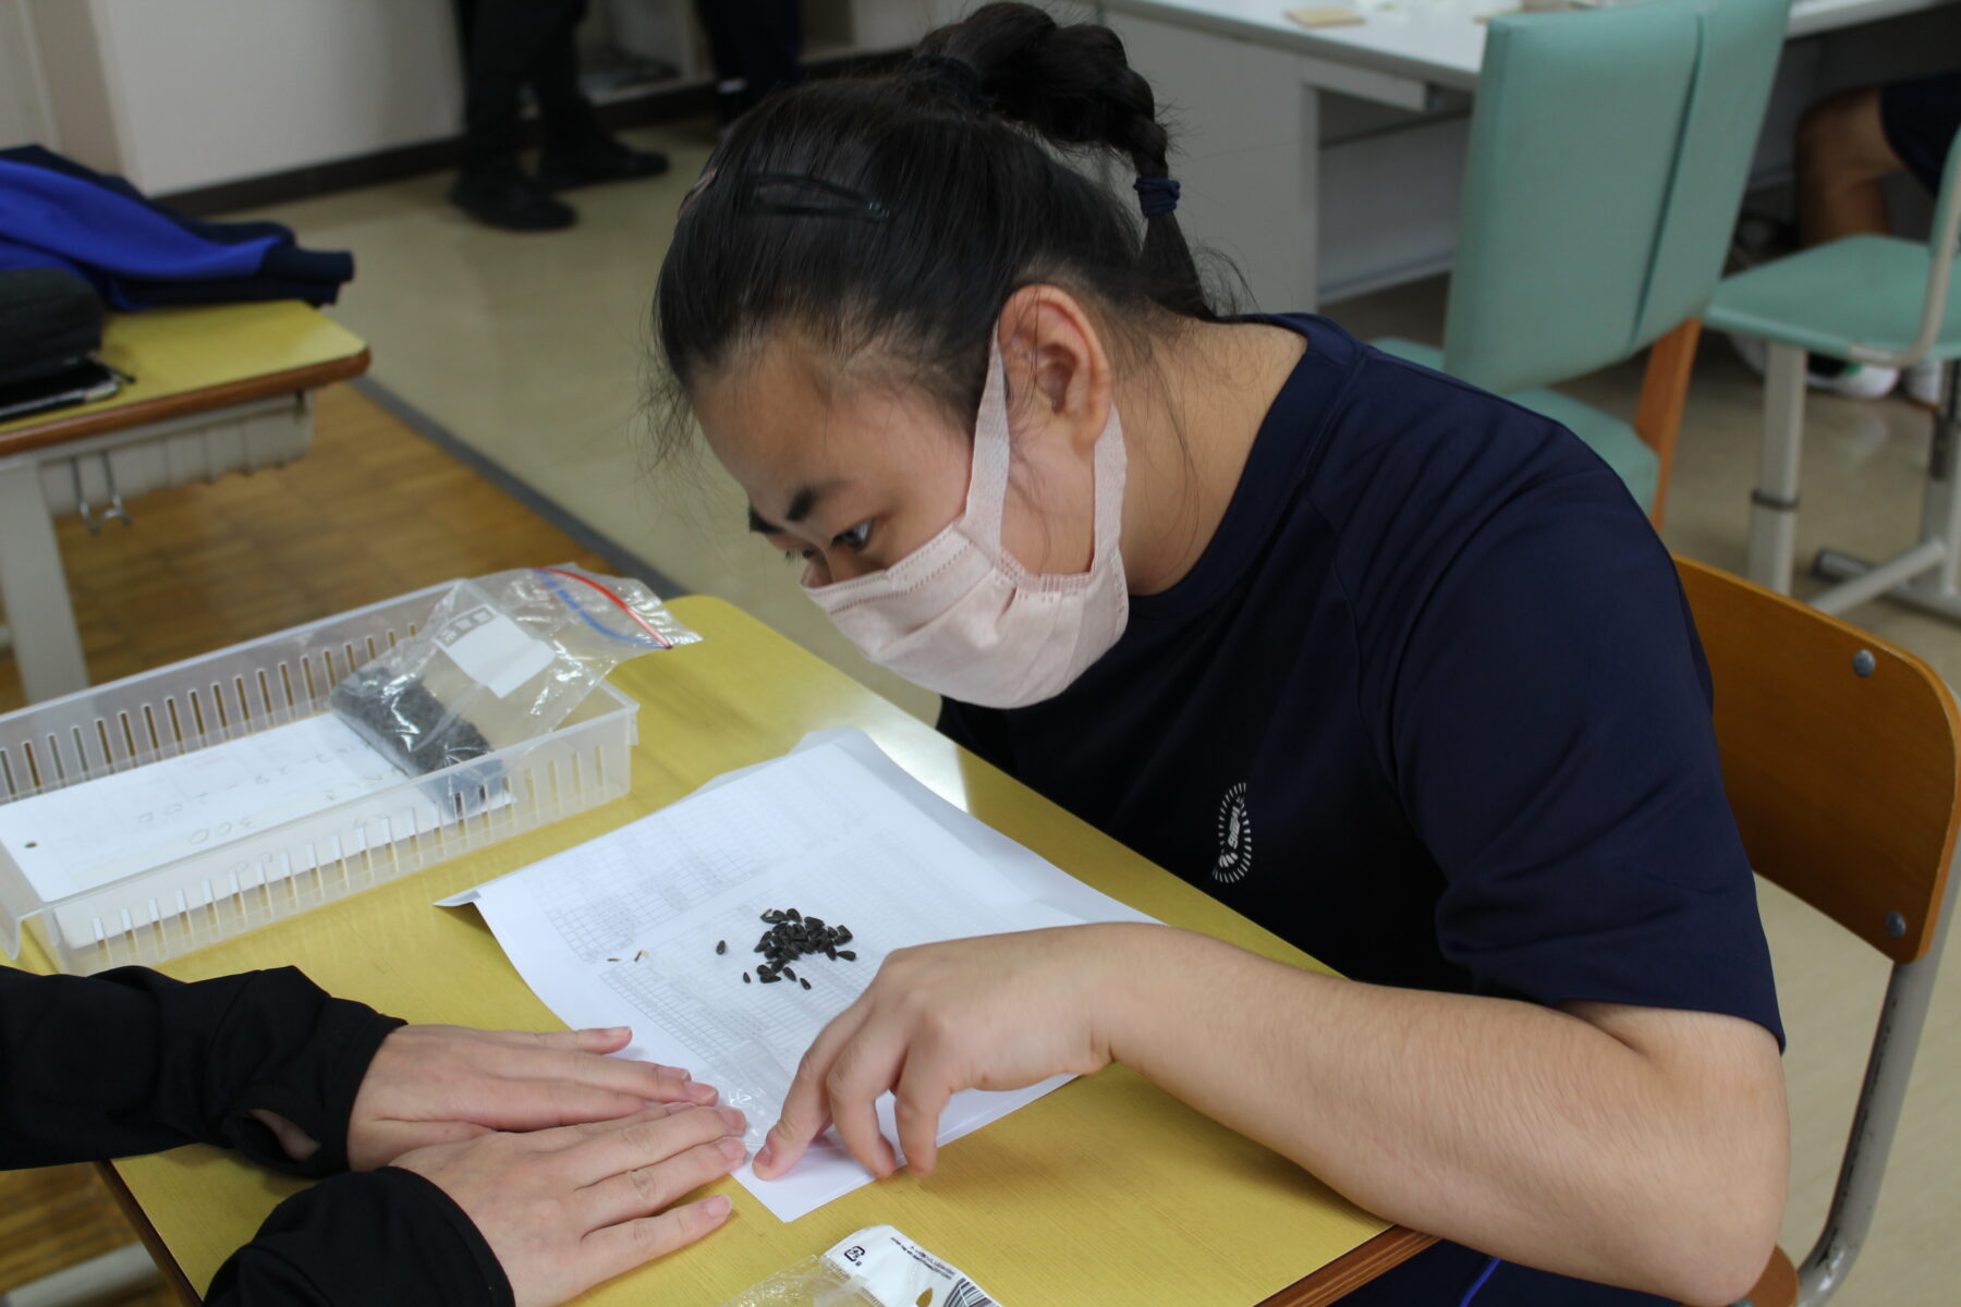
<path id="1" fill-rule="evenodd" d="M 1163 927 L 908 950 L 757 1170 L 835 1123 L 890 1172 L 894 1089 L 930 1172 L 949 1093 L 1122 1062 L 1453 1240 L 1351 1303 L 1492 1262 L 1481 1307 L 1741 1297 L 1785 1199 L 1777 999 L 1634 500 L 1324 317 L 1216 315 L 1110 31 L 988 6 L 922 51 L 708 163 L 655 306 L 686 408 L 943 731 L 1349 980 Z M 1055 147 L 1135 174 L 1141 237 Z"/>

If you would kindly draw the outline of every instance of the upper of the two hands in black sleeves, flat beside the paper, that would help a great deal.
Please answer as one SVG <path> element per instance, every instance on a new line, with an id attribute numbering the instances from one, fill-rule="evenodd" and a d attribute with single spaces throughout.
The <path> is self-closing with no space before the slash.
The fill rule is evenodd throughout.
<path id="1" fill-rule="evenodd" d="M 361 1080 L 347 1121 L 347 1164 L 373 1170 L 410 1148 L 492 1131 L 614 1121 L 649 1103 L 716 1101 L 716 1089 L 684 1070 L 606 1056 L 631 1039 L 626 1027 L 535 1033 L 404 1025 L 380 1042 Z M 296 1162 L 320 1146 L 275 1113 L 253 1115 Z"/>

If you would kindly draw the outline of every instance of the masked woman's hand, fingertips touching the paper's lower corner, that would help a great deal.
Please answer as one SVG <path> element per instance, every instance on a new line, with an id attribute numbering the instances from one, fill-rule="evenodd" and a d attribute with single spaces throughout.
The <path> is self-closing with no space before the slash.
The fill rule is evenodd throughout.
<path id="1" fill-rule="evenodd" d="M 928 1176 L 939 1156 L 939 1113 L 961 1089 L 1022 1089 L 1102 1070 L 1110 1048 L 1094 1013 L 1135 962 L 1120 943 L 1090 925 L 890 954 L 804 1054 L 755 1174 L 782 1176 L 835 1125 L 851 1156 L 890 1176 L 898 1158 L 879 1133 L 877 1101 L 892 1089 L 906 1164 Z"/>

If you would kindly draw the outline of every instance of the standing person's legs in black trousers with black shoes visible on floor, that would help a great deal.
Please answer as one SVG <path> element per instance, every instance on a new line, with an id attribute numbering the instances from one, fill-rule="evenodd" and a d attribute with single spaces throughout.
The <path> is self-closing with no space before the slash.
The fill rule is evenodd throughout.
<path id="1" fill-rule="evenodd" d="M 578 212 L 553 188 L 657 176 L 667 159 L 631 151 L 600 127 L 578 90 L 575 31 L 586 0 L 475 0 L 463 8 L 463 169 L 449 200 L 492 227 L 557 231 Z M 518 165 L 520 92 L 529 84 L 545 125 L 531 178 Z"/>

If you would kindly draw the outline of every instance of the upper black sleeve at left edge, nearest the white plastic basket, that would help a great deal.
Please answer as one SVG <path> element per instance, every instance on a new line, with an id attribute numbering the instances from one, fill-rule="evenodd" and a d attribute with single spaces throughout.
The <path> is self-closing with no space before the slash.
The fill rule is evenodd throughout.
<path id="1" fill-rule="evenodd" d="M 206 1142 L 302 1176 L 345 1170 L 355 1093 L 398 1025 L 290 966 L 196 984 L 0 968 L 0 1168 Z M 290 1160 L 253 1107 L 320 1152 Z"/>

